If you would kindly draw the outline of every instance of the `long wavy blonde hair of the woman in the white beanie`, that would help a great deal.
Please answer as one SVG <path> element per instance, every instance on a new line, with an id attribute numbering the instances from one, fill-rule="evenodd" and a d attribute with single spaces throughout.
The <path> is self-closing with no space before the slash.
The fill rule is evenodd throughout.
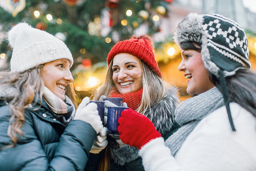
<path id="1" fill-rule="evenodd" d="M 0 85 L 3 87 L 13 87 L 16 89 L 15 96 L 8 103 L 11 109 L 10 125 L 8 135 L 13 140 L 13 145 L 17 144 L 17 134 L 23 135 L 21 127 L 25 121 L 24 111 L 32 101 L 40 99 L 42 104 L 44 83 L 40 76 L 43 65 L 36 66 L 23 72 L 0 72 Z M 66 95 L 70 97 L 72 103 L 77 107 L 76 93 L 72 84 L 66 87 Z"/>

